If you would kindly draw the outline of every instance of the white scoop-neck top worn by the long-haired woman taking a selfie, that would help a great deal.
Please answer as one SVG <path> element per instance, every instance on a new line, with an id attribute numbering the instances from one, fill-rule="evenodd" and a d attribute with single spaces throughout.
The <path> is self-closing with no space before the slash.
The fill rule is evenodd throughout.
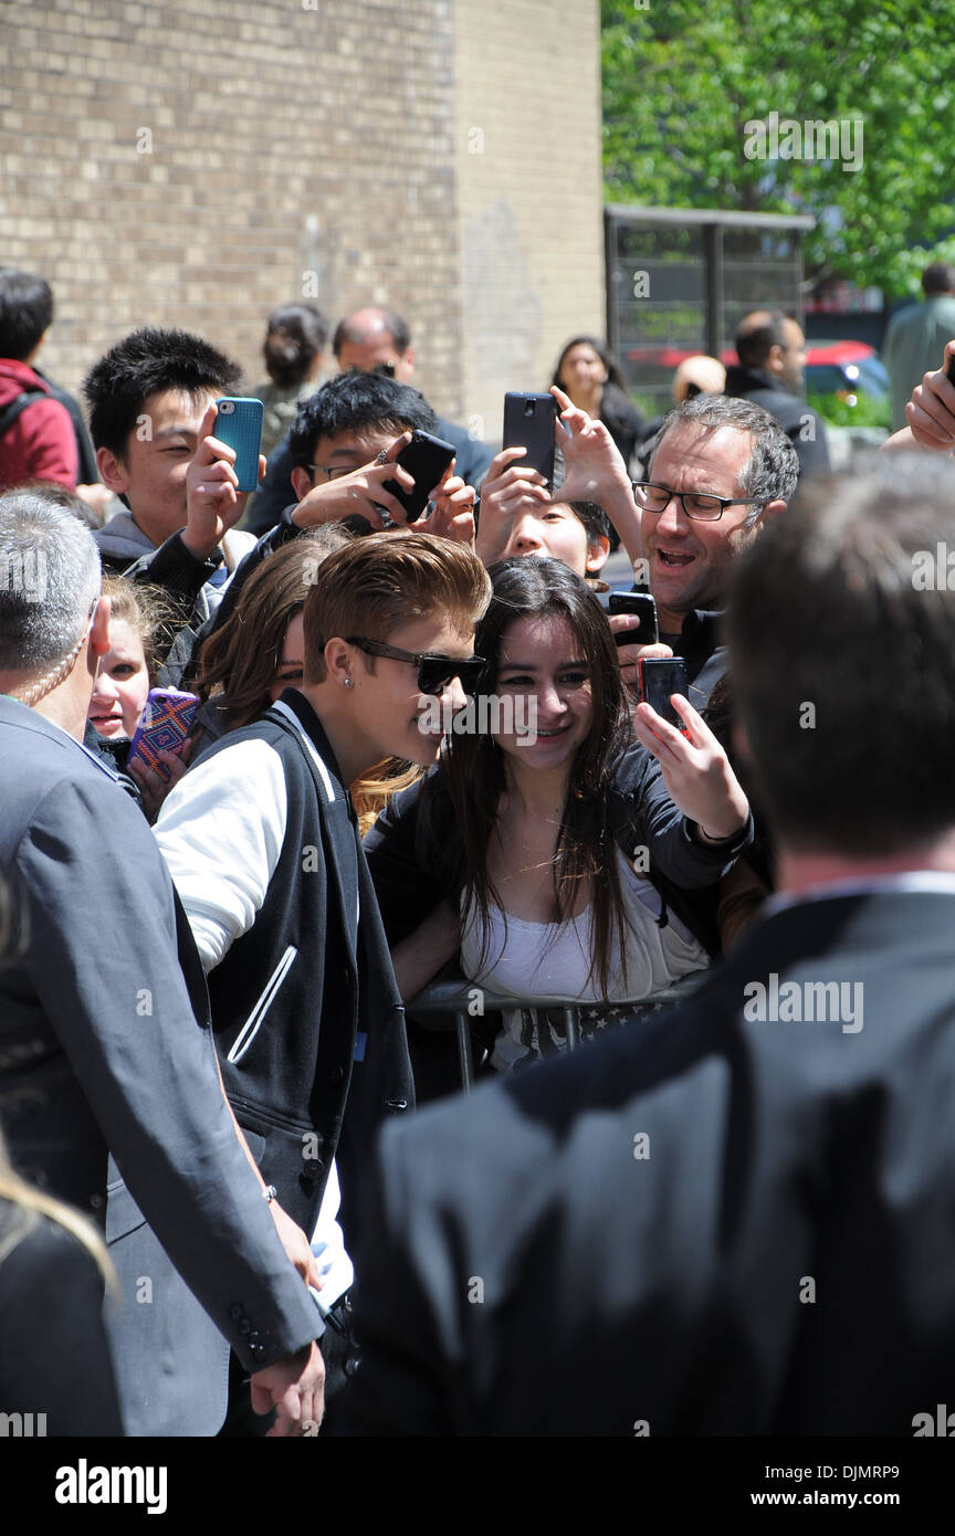
<path id="1" fill-rule="evenodd" d="M 611 952 L 606 991 L 596 975 L 588 980 L 593 906 L 565 923 L 531 923 L 493 906 L 488 943 L 482 954 L 482 928 L 474 903 L 462 897 L 461 963 L 465 977 L 491 992 L 613 1003 L 625 997 L 649 997 L 691 971 L 705 969 L 709 965 L 706 951 L 669 909 L 669 922 L 660 928 L 660 895 L 649 880 L 634 874 L 620 851 L 617 863 L 628 925 L 626 980 L 616 949 Z M 493 1064 L 507 1071 L 536 1051 L 536 1029 L 534 1023 L 528 1034 L 528 1020 L 519 1009 L 505 1011 Z"/>

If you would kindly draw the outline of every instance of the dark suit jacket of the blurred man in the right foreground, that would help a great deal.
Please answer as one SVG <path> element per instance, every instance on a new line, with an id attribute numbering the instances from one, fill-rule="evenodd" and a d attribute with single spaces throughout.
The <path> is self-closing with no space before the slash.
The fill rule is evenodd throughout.
<path id="1" fill-rule="evenodd" d="M 953 937 L 949 892 L 783 909 L 682 1009 L 388 1127 L 345 1432 L 912 1435 L 955 1381 Z M 772 974 L 843 1021 L 745 1017 Z"/>

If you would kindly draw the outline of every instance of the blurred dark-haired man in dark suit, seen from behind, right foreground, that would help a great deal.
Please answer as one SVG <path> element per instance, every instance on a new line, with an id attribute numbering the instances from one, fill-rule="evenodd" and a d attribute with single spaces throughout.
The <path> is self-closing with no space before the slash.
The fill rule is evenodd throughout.
<path id="1" fill-rule="evenodd" d="M 953 493 L 886 458 L 740 558 L 729 679 L 780 895 L 679 1011 L 388 1127 L 352 1433 L 944 1419 Z"/>

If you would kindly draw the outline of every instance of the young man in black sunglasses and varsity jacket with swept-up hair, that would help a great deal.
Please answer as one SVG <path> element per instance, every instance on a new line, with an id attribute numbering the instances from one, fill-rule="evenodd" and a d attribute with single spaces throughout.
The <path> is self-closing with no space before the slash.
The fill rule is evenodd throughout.
<path id="1" fill-rule="evenodd" d="M 462 685 L 478 685 L 474 625 L 488 601 L 484 565 L 450 539 L 399 530 L 327 556 L 304 608 L 301 688 L 223 737 L 155 828 L 207 974 L 236 1120 L 266 1184 L 327 1253 L 339 1243 L 339 1132 L 347 1235 L 378 1123 L 413 1103 L 347 786 L 382 757 L 436 762 L 431 705 L 464 707 Z M 349 1281 L 341 1256 L 322 1312 Z"/>

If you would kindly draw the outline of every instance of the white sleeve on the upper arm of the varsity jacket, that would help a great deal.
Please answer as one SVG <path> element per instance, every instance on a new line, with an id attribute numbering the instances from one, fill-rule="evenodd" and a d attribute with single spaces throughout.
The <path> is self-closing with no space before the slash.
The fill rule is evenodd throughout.
<path id="1" fill-rule="evenodd" d="M 236 742 L 180 779 L 155 836 L 206 972 L 247 932 L 286 837 L 286 776 L 267 742 Z"/>

